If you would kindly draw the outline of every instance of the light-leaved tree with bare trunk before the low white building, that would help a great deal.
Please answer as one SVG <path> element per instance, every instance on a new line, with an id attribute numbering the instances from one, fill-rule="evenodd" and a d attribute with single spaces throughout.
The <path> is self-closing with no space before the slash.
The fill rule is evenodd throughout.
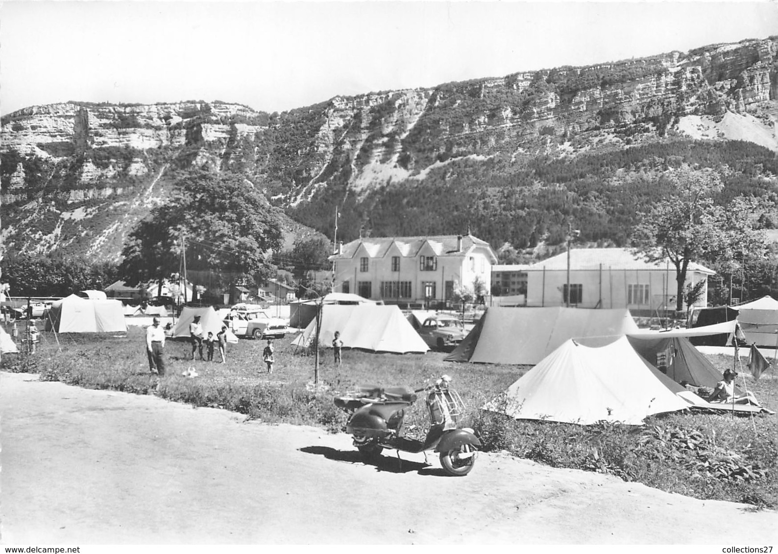
<path id="1" fill-rule="evenodd" d="M 689 263 L 716 260 L 726 265 L 743 256 L 765 255 L 766 237 L 757 219 L 769 203 L 736 197 L 726 206 L 716 204 L 714 196 L 724 185 L 713 170 L 683 167 L 661 179 L 670 181 L 670 192 L 638 214 L 633 247 L 647 261 L 670 260 L 677 285 L 675 308 L 681 311 Z"/>

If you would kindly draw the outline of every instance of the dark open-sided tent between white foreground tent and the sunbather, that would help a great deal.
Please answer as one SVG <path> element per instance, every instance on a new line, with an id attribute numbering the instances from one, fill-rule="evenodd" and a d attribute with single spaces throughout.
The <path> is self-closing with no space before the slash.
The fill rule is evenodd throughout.
<path id="1" fill-rule="evenodd" d="M 713 388 L 724 379 L 708 358 L 683 336 L 632 335 L 628 339 L 648 363 L 668 368 L 667 376 L 677 383 L 685 381 L 696 387 Z"/>

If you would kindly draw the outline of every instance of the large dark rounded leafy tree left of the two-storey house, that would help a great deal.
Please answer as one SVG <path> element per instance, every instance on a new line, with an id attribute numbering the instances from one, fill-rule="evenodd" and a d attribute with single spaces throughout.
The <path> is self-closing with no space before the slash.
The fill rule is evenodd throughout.
<path id="1" fill-rule="evenodd" d="M 211 284 L 261 280 L 266 253 L 281 245 L 279 210 L 234 174 L 194 172 L 176 185 L 173 197 L 130 233 L 120 267 L 128 284 L 161 286 L 179 271 L 184 245 L 187 270 L 208 271 Z"/>

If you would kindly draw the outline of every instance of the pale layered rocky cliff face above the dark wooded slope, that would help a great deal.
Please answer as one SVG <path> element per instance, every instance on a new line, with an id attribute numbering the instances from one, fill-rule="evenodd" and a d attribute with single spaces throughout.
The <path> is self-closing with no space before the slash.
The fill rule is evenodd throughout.
<path id="1" fill-rule="evenodd" d="M 8 248 L 115 258 L 131 225 L 194 166 L 242 172 L 302 213 L 328 194 L 358 202 L 387 183 L 423 185 L 457 160 L 520 164 L 683 134 L 778 151 L 776 52 L 776 37 L 745 40 L 280 114 L 221 102 L 31 106 L 2 118 L 2 236 Z"/>

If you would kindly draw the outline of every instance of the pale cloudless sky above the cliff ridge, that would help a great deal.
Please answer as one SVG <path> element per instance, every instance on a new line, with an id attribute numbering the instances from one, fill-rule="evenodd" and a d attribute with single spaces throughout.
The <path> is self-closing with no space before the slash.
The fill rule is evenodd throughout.
<path id="1" fill-rule="evenodd" d="M 283 111 L 775 34 L 776 1 L 4 0 L 0 112 L 187 99 Z"/>

